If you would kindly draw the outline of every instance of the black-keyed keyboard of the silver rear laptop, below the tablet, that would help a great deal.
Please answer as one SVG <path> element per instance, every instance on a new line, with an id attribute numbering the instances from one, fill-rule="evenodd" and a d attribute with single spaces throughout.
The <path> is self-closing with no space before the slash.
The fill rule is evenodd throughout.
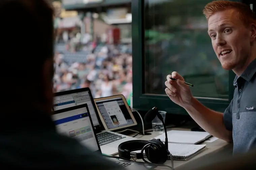
<path id="1" fill-rule="evenodd" d="M 103 132 L 103 133 L 97 134 L 97 138 L 98 138 L 100 146 L 102 146 L 102 145 L 106 145 L 110 142 L 125 138 L 125 136 L 121 136 L 121 135 L 110 133 L 110 132 Z"/>

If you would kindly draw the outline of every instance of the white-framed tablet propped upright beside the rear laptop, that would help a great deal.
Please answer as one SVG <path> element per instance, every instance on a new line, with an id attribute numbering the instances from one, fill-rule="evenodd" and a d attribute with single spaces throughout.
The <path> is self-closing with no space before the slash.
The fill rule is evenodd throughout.
<path id="1" fill-rule="evenodd" d="M 132 112 L 123 95 L 94 99 L 98 112 L 107 129 L 117 129 L 136 125 Z"/>

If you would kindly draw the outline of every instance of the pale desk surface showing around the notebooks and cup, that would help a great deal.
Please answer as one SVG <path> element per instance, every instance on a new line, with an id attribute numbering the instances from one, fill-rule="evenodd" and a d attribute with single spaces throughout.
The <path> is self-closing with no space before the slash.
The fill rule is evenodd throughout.
<path id="1" fill-rule="evenodd" d="M 173 128 L 176 130 L 188 130 L 184 128 Z M 151 135 L 138 135 L 137 138 L 141 140 L 149 140 L 154 138 L 155 136 L 159 135 L 158 132 L 151 132 Z M 213 161 L 217 161 L 221 156 L 232 156 L 233 145 L 232 143 L 228 143 L 222 139 L 217 139 L 212 142 L 203 142 L 202 144 L 206 144 L 206 149 L 202 152 L 197 153 L 196 155 L 192 156 L 187 161 L 178 161 L 174 160 L 174 169 L 175 170 L 184 170 L 189 169 L 191 166 L 198 166 L 198 164 L 206 164 L 211 163 Z M 142 160 L 141 160 L 142 161 Z M 171 161 L 167 160 L 165 165 L 171 166 Z M 159 169 L 169 169 L 168 167 L 158 167 Z"/>

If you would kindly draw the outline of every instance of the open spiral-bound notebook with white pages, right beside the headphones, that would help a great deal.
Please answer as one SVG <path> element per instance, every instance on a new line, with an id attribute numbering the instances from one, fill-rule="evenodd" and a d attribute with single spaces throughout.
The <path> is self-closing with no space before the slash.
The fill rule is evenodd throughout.
<path id="1" fill-rule="evenodd" d="M 205 146 L 206 145 L 168 143 L 168 150 L 172 154 L 173 160 L 186 161 L 188 158 L 206 149 Z M 145 153 L 143 153 L 143 156 L 146 158 Z M 170 155 L 167 156 L 167 159 L 171 159 Z"/>

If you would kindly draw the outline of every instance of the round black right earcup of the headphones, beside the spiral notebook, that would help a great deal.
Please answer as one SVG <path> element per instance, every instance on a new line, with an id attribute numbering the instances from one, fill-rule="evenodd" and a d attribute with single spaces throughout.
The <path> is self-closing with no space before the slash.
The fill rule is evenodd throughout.
<path id="1" fill-rule="evenodd" d="M 163 164 L 167 160 L 167 150 L 162 141 L 158 139 L 149 140 L 150 145 L 145 148 L 147 159 L 155 164 Z"/>

